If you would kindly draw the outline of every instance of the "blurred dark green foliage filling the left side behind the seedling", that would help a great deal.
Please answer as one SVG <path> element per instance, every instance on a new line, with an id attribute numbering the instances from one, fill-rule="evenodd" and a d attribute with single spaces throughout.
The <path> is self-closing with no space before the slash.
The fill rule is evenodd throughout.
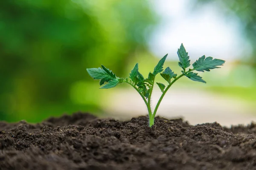
<path id="1" fill-rule="evenodd" d="M 99 111 L 86 68 L 122 76 L 156 20 L 140 0 L 1 0 L 0 120 Z"/>

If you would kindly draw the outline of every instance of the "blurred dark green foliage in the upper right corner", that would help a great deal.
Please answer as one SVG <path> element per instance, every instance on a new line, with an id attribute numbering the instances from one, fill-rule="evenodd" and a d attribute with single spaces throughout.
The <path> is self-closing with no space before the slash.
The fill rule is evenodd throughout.
<path id="1" fill-rule="evenodd" d="M 217 3 L 228 15 L 236 15 L 241 22 L 244 35 L 256 54 L 256 0 L 197 0 L 199 4 Z M 253 55 L 248 65 L 256 66 L 256 56 Z"/>

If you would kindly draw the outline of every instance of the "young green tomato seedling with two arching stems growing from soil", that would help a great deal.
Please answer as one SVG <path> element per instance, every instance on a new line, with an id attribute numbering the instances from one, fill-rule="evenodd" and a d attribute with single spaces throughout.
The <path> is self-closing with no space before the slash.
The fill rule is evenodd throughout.
<path id="1" fill-rule="evenodd" d="M 102 68 L 87 68 L 87 72 L 93 79 L 100 80 L 99 85 L 103 85 L 105 82 L 107 82 L 107 84 L 105 84 L 101 88 L 113 88 L 116 87 L 116 85 L 118 85 L 119 83 L 123 82 L 131 85 L 140 94 L 140 96 L 142 97 L 147 106 L 149 126 L 151 127 L 152 125 L 154 125 L 154 117 L 157 113 L 157 109 L 160 105 L 160 102 L 162 101 L 163 96 L 166 94 L 169 88 L 173 85 L 173 83 L 175 83 L 178 79 L 180 79 L 183 76 L 186 76 L 189 79 L 192 79 L 193 81 L 206 83 L 202 79 L 202 77 L 198 76 L 198 74 L 193 71 L 210 71 L 210 69 L 219 68 L 217 66 L 223 65 L 225 62 L 221 59 L 212 59 L 212 57 L 202 56 L 192 64 L 193 68 L 189 68 L 188 70 L 186 70 L 186 68 L 190 66 L 190 60 L 183 44 L 180 45 L 177 54 L 180 60 L 178 64 L 182 68 L 182 74 L 180 74 L 179 76 L 177 76 L 177 74 L 175 74 L 169 67 L 163 70 L 163 64 L 168 54 L 166 54 L 162 59 L 160 59 L 160 61 L 155 66 L 153 73 L 149 72 L 148 78 L 144 78 L 143 75 L 140 74 L 138 63 L 131 70 L 129 77 L 130 80 L 128 80 L 128 78 L 124 79 L 116 77 L 116 74 L 113 74 L 113 72 L 108 68 L 105 68 L 104 65 L 102 65 Z M 153 111 L 151 110 L 151 94 L 154 87 L 155 77 L 159 73 L 163 77 L 163 79 L 165 79 L 168 82 L 168 85 L 166 86 L 160 82 L 157 82 L 158 87 L 162 91 L 162 95 L 160 96 L 160 99 L 157 102 L 157 105 Z"/>

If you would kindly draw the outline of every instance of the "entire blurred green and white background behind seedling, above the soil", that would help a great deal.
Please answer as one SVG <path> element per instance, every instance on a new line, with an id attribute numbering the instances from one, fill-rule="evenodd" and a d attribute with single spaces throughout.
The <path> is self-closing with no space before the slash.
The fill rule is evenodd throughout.
<path id="1" fill-rule="evenodd" d="M 256 119 L 255 0 L 2 0 L 0 120 L 40 122 L 76 111 L 122 119 L 146 114 L 135 90 L 99 89 L 86 68 L 104 64 L 128 77 L 138 62 L 147 75 L 168 53 L 165 67 L 179 74 L 182 42 L 192 62 L 206 55 L 226 63 L 200 74 L 207 84 L 175 83 L 159 115 L 192 124 Z M 159 96 L 155 86 L 152 106 Z"/>

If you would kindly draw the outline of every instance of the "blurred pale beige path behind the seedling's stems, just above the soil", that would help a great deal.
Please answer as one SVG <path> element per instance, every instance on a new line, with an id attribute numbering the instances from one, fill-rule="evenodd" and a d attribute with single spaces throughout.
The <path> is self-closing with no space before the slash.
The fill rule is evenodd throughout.
<path id="1" fill-rule="evenodd" d="M 161 91 L 153 91 L 151 108 L 155 107 L 161 94 Z M 109 97 L 111 104 L 106 109 L 109 116 L 129 119 L 147 114 L 145 103 L 136 91 L 119 90 Z M 256 108 L 247 102 L 207 91 L 172 89 L 164 96 L 156 116 L 182 117 L 191 125 L 207 122 L 218 122 L 223 126 L 247 125 L 256 121 Z"/>

